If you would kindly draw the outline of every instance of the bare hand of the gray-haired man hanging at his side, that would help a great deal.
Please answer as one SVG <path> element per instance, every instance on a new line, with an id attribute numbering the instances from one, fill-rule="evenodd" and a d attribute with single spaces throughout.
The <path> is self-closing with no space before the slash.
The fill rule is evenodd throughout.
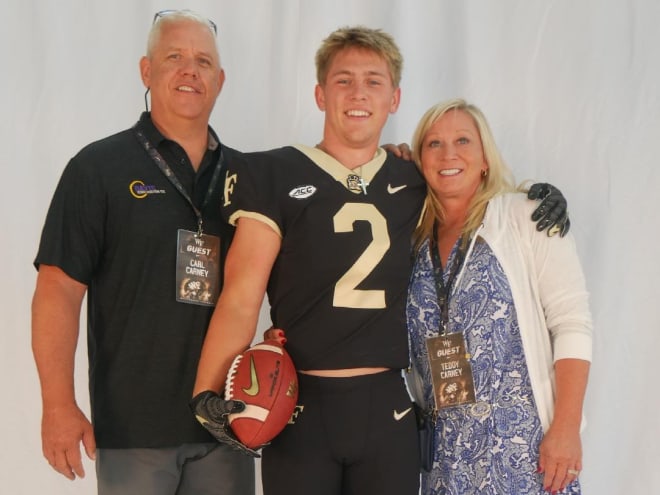
<path id="1" fill-rule="evenodd" d="M 44 457 L 58 473 L 70 480 L 85 477 L 80 443 L 87 457 L 96 458 L 96 440 L 92 424 L 75 404 L 44 408 L 41 419 L 41 443 Z"/>

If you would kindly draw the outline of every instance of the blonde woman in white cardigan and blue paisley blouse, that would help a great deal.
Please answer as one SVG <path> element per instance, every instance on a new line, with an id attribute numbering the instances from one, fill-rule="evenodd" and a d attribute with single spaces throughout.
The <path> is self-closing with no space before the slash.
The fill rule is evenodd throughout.
<path id="1" fill-rule="evenodd" d="M 529 222 L 534 205 L 475 106 L 432 107 L 413 155 L 428 190 L 409 379 L 435 420 L 422 493 L 580 493 L 591 319 L 574 240 Z"/>

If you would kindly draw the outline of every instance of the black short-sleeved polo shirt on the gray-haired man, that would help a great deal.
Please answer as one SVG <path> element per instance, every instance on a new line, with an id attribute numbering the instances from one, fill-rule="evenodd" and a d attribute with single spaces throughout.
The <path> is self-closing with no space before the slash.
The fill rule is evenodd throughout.
<path id="1" fill-rule="evenodd" d="M 148 113 L 137 127 L 198 208 L 220 150 L 225 160 L 240 157 L 209 129 L 218 145 L 195 172 Z M 220 217 L 224 173 L 219 179 L 202 216 L 205 233 L 221 238 L 224 261 L 233 229 Z M 88 286 L 89 387 L 100 448 L 212 441 L 188 401 L 213 308 L 176 301 L 179 229 L 197 229 L 193 208 L 132 129 L 82 149 L 55 191 L 35 265 L 58 266 Z"/>

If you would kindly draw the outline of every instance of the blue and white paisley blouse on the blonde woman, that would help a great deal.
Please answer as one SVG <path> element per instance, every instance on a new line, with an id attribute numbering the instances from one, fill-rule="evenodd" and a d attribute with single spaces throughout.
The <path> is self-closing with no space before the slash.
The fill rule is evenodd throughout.
<path id="1" fill-rule="evenodd" d="M 443 276 L 447 282 L 447 270 Z M 426 339 L 438 335 L 440 311 L 428 242 L 415 260 L 406 312 L 412 365 L 423 378 L 426 405 L 434 407 Z M 447 331 L 464 334 L 477 402 L 438 411 L 433 467 L 422 472 L 422 494 L 545 493 L 536 472 L 543 429 L 516 308 L 502 267 L 480 238 L 453 288 Z M 579 482 L 562 493 L 579 494 Z"/>

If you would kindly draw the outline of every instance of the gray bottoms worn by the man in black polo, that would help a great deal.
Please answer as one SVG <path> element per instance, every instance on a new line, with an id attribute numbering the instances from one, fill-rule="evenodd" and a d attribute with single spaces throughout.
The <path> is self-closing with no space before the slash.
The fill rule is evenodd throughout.
<path id="1" fill-rule="evenodd" d="M 254 460 L 219 443 L 97 449 L 99 495 L 253 495 Z"/>

